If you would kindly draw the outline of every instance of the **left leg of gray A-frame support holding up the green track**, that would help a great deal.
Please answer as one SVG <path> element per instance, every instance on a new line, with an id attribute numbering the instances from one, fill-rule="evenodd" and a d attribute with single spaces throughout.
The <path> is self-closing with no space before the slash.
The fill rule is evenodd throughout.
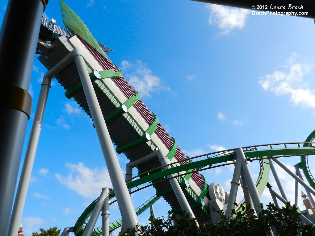
<path id="1" fill-rule="evenodd" d="M 230 194 L 229 194 L 229 199 L 227 201 L 227 206 L 226 206 L 226 217 L 229 218 L 231 216 L 231 211 L 234 209 L 234 202 L 236 202 L 236 195 L 237 195 L 237 190 L 239 186 L 239 180 L 240 180 L 240 175 L 241 175 L 241 159 L 236 156 L 236 153 L 234 151 L 234 157 L 236 162 L 234 163 L 234 172 L 233 172 L 233 177 L 231 181 L 231 188 L 230 188 Z"/>

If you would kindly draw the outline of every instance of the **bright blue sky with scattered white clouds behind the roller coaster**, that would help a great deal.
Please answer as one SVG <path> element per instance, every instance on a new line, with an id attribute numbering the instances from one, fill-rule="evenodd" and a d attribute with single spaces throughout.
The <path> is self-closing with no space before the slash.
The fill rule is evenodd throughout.
<path id="1" fill-rule="evenodd" d="M 315 129 L 312 19 L 252 15 L 250 10 L 186 0 L 65 3 L 113 50 L 109 58 L 186 155 L 302 142 Z M 0 4 L 2 21 L 7 1 Z M 59 1 L 49 1 L 44 15 L 63 26 Z M 32 117 L 46 71 L 35 59 Z M 32 118 L 22 161 L 31 124 Z M 124 170 L 126 158 L 118 158 Z M 300 160 L 282 161 L 293 166 Z M 255 179 L 258 166 L 251 167 Z M 229 191 L 232 171 L 221 167 L 202 174 L 208 183 L 219 182 Z M 294 200 L 294 182 L 283 171 L 278 173 Z M 22 216 L 25 235 L 39 227 L 73 226 L 107 186 L 111 183 L 91 119 L 54 82 Z M 135 194 L 135 207 L 154 192 Z M 264 193 L 262 199 L 269 202 L 271 197 Z M 165 216 L 170 207 L 159 200 L 154 209 Z M 117 205 L 110 211 L 110 220 L 120 218 Z M 149 215 L 146 211 L 139 216 L 140 223 Z"/>

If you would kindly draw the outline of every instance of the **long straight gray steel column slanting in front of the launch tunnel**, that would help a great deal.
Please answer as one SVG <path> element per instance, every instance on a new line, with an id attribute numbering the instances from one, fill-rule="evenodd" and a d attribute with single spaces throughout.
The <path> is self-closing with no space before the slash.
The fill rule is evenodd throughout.
<path id="1" fill-rule="evenodd" d="M 76 50 L 74 61 L 77 65 L 83 90 L 89 104 L 89 110 L 94 121 L 95 130 L 100 141 L 100 146 L 104 155 L 108 173 L 111 177 L 111 182 L 115 191 L 119 211 L 121 212 L 121 216 L 123 218 L 125 226 L 127 228 L 131 228 L 139 223 L 138 217 L 131 201 L 127 185 L 123 178 L 117 155 L 113 147 L 106 123 L 104 121 L 104 117 L 100 109 L 100 104 L 98 103 L 94 87 L 92 85 L 88 71 L 86 70 L 83 56 L 80 55 L 80 50 L 78 48 L 75 48 L 74 50 Z"/>

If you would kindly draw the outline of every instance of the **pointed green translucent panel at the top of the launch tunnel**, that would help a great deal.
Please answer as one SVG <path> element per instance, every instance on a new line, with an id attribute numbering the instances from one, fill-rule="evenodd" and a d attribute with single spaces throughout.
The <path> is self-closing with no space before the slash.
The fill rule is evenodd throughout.
<path id="1" fill-rule="evenodd" d="M 62 0 L 60 0 L 63 23 L 72 30 L 77 36 L 81 37 L 85 42 L 91 45 L 97 52 L 108 60 L 108 57 L 96 41 L 88 27 L 83 23 L 80 17 L 77 16 Z"/>

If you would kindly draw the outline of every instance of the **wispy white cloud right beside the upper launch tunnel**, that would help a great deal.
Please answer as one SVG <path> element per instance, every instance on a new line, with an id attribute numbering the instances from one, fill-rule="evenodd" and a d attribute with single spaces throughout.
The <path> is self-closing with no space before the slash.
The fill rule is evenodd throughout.
<path id="1" fill-rule="evenodd" d="M 128 61 L 123 61 L 123 67 L 130 67 Z M 160 83 L 160 78 L 152 75 L 152 71 L 147 68 L 146 63 L 137 60 L 132 73 L 125 74 L 131 86 L 140 93 L 141 97 L 151 98 L 151 93 L 158 93 L 160 90 L 167 90 L 170 92 L 169 87 L 163 87 Z"/>

